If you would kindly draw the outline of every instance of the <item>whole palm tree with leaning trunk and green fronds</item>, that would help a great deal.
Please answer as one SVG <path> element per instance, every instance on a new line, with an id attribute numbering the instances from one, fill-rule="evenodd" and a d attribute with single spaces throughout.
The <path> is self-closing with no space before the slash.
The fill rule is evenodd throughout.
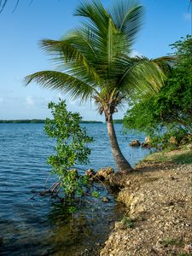
<path id="1" fill-rule="evenodd" d="M 131 165 L 119 149 L 113 127 L 113 113 L 127 99 L 153 94 L 164 75 L 158 61 L 131 56 L 131 46 L 142 25 L 143 6 L 129 0 L 116 1 L 104 9 L 100 1 L 81 3 L 75 15 L 82 25 L 61 40 L 44 39 L 42 48 L 58 64 L 53 71 L 26 77 L 44 88 L 61 90 L 81 102 L 93 100 L 104 113 L 113 157 L 119 172 L 130 172 Z"/>

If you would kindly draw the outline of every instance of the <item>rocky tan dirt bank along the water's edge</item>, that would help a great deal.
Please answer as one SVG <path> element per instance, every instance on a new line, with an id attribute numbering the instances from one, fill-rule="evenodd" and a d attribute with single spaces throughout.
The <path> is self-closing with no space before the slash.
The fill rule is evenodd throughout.
<path id="1" fill-rule="evenodd" d="M 125 217 L 101 256 L 192 255 L 191 162 L 191 150 L 152 154 L 121 177 L 118 201 L 125 204 Z"/>

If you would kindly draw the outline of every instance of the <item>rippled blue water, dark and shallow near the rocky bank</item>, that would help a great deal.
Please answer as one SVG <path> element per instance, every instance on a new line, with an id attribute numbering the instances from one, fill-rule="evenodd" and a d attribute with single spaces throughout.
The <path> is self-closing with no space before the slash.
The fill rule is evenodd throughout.
<path id="1" fill-rule="evenodd" d="M 84 126 L 95 142 L 91 144 L 90 164 L 80 167 L 115 168 L 106 125 Z M 149 153 L 148 149 L 128 147 L 132 139 L 143 141 L 143 135 L 122 135 L 122 125 L 115 125 L 115 130 L 119 146 L 132 166 Z M 46 158 L 54 150 L 43 124 L 0 124 L 0 143 L 1 255 L 81 255 L 108 236 L 110 223 L 118 215 L 110 192 L 103 191 L 110 199 L 108 204 L 85 201 L 73 218 L 54 199 L 31 199 L 32 190 L 44 190 L 49 176 Z M 55 181 L 54 176 L 49 177 L 47 187 Z"/>

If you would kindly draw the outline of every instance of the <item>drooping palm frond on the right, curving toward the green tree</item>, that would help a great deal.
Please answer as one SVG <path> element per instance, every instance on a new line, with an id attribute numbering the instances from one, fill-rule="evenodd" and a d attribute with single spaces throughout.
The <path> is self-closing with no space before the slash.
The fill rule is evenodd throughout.
<path id="1" fill-rule="evenodd" d="M 146 95 L 154 94 L 166 78 L 158 64 L 146 57 L 124 56 L 117 60 L 116 67 L 117 73 L 113 73 L 119 77 L 117 87 L 125 96 L 131 96 L 136 90 Z M 123 72 L 120 73 L 120 70 Z"/>

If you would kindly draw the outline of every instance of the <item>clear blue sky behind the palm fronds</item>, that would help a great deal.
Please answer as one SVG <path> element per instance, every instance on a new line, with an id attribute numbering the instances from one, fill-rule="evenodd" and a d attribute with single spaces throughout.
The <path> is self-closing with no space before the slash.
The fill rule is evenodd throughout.
<path id="1" fill-rule="evenodd" d="M 118 1 L 118 0 L 115 0 Z M 74 10 L 79 0 L 16 0 L 0 15 L 0 119 L 44 119 L 49 117 L 47 104 L 57 101 L 58 91 L 44 90 L 37 84 L 24 87 L 23 78 L 36 71 L 51 69 L 49 56 L 39 48 L 42 38 L 58 39 L 74 26 L 79 17 Z M 113 0 L 102 0 L 109 7 Z M 158 57 L 172 52 L 169 44 L 191 34 L 191 9 L 189 0 L 141 0 L 145 7 L 143 29 L 134 45 L 136 54 Z M 104 120 L 90 102 L 67 99 L 68 109 L 79 111 L 84 119 Z M 125 108 L 126 110 L 126 108 Z M 121 111 L 114 118 L 122 118 Z"/>

